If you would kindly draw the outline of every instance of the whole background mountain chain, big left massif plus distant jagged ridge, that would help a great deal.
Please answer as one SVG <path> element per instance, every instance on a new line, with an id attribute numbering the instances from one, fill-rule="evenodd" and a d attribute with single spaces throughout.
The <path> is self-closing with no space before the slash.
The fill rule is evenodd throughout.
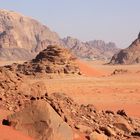
<path id="1" fill-rule="evenodd" d="M 47 48 L 60 45 L 84 59 L 110 59 L 119 49 L 102 40 L 81 42 L 72 37 L 61 39 L 47 26 L 14 11 L 0 10 L 0 60 L 27 60 Z"/>

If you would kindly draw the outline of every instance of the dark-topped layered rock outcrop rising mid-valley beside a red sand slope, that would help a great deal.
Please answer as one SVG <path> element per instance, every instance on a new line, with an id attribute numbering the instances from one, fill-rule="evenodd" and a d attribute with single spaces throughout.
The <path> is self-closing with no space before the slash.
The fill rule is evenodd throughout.
<path id="1" fill-rule="evenodd" d="M 76 58 L 65 48 L 49 45 L 35 59 L 24 64 L 7 66 L 9 70 L 25 75 L 80 74 Z"/>

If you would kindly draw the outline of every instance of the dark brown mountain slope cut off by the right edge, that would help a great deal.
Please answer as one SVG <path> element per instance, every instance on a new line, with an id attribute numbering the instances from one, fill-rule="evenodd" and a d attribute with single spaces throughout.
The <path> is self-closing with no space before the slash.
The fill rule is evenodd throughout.
<path id="1" fill-rule="evenodd" d="M 132 44 L 115 54 L 110 64 L 138 64 L 140 63 L 140 33 Z"/>

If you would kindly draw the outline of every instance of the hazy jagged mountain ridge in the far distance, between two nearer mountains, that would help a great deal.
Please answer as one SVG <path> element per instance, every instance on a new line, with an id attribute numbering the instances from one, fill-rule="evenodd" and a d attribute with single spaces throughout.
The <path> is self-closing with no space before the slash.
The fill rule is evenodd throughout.
<path id="1" fill-rule="evenodd" d="M 108 60 L 119 51 L 115 43 L 105 43 L 102 40 L 81 42 L 67 37 L 63 39 L 63 42 L 76 56 L 86 59 Z"/>

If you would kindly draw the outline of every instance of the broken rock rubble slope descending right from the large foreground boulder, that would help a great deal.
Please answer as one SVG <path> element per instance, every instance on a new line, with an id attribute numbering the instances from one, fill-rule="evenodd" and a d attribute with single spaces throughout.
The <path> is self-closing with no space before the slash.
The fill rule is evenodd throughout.
<path id="1" fill-rule="evenodd" d="M 46 96 L 46 100 L 65 122 L 73 129 L 84 132 L 88 137 L 96 131 L 97 138 L 99 136 L 102 139 L 126 140 L 134 137 L 139 139 L 139 136 L 132 135 L 136 133 L 135 130 L 140 129 L 139 120 L 115 112 L 98 111 L 93 105 L 78 105 L 62 93 Z M 137 123 L 134 123 L 135 121 Z"/>

